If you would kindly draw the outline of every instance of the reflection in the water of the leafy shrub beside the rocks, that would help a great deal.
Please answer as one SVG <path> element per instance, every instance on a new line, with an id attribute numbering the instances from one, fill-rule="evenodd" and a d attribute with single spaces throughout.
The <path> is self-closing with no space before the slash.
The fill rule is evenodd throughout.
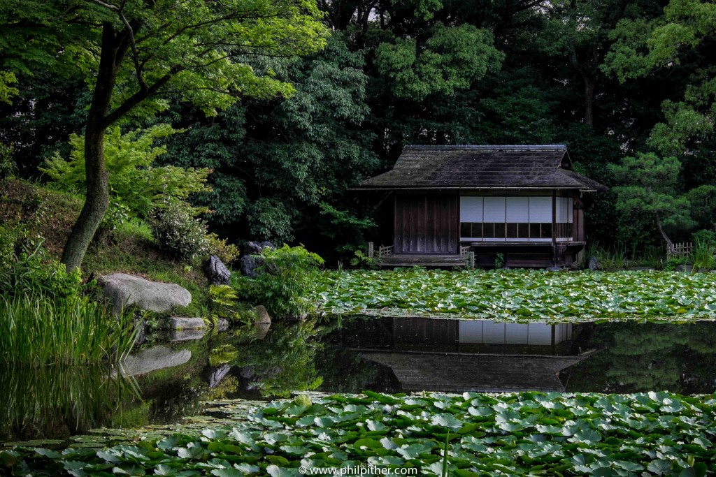
<path id="1" fill-rule="evenodd" d="M 242 374 L 264 397 L 314 390 L 323 381 L 316 371 L 319 333 L 315 320 L 271 325 L 263 340 L 239 346 L 232 364 L 244 368 Z"/>

